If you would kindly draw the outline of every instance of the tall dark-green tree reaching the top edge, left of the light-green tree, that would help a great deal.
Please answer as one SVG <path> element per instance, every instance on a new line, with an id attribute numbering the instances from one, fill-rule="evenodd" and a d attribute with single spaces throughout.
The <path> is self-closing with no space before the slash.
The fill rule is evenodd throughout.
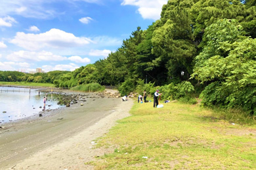
<path id="1" fill-rule="evenodd" d="M 192 74 L 192 60 L 196 54 L 189 15 L 192 5 L 194 1 L 168 1 L 154 26 L 152 53 L 158 58 L 152 60 L 152 65 L 167 69 L 167 77 L 172 79 L 188 79 Z"/>

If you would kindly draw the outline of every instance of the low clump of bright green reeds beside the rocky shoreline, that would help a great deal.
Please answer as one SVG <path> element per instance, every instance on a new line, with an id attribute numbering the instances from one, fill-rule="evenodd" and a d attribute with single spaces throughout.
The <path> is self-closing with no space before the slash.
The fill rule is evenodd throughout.
<path id="1" fill-rule="evenodd" d="M 72 91 L 83 91 L 83 92 L 96 92 L 96 91 L 104 91 L 105 87 L 98 83 L 89 83 L 85 85 L 77 85 L 72 87 L 70 90 Z"/>

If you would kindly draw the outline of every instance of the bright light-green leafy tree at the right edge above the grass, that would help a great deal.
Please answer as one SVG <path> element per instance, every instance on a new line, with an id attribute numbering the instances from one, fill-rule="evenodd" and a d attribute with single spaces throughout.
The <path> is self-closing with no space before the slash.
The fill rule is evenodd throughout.
<path id="1" fill-rule="evenodd" d="M 255 114 L 256 40 L 243 36 L 241 29 L 228 20 L 205 29 L 206 46 L 196 57 L 192 76 L 202 83 L 213 82 L 201 94 L 205 106 L 242 108 Z"/>

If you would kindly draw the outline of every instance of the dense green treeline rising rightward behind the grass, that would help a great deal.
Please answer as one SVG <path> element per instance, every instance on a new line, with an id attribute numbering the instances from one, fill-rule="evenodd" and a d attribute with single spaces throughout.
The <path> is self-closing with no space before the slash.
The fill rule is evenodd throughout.
<path id="1" fill-rule="evenodd" d="M 167 99 L 256 113 L 256 1 L 171 0 L 161 18 L 140 27 L 108 58 L 62 75 L 54 84 L 118 85 L 125 95 L 156 86 Z M 27 79 L 28 81 L 28 79 Z M 51 81 L 52 82 L 52 81 Z"/>

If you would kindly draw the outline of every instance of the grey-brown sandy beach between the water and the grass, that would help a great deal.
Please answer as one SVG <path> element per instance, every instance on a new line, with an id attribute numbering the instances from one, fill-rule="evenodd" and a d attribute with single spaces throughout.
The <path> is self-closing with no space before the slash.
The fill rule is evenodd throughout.
<path id="1" fill-rule="evenodd" d="M 0 169 L 93 169 L 85 162 L 113 150 L 94 148 L 118 119 L 129 116 L 132 100 L 87 98 L 43 113 L 42 117 L 7 123 L 0 129 Z"/>

